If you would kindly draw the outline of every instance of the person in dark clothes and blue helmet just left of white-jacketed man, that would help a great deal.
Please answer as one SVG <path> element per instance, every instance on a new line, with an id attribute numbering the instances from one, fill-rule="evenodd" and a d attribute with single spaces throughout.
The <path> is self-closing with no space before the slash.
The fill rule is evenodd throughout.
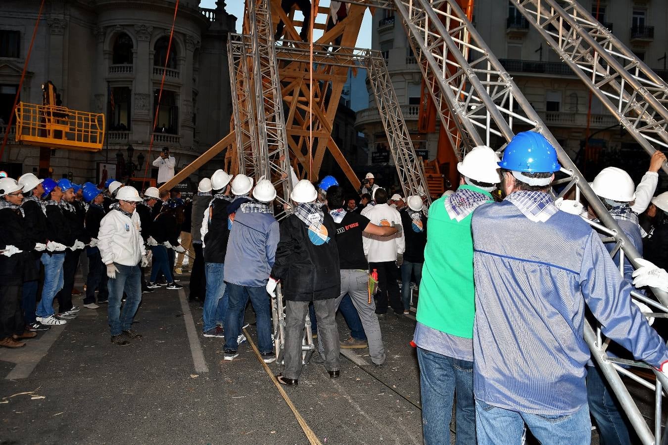
<path id="1" fill-rule="evenodd" d="M 86 298 L 83 298 L 83 307 L 88 309 L 97 309 L 95 302 L 95 290 L 98 290 L 98 303 L 107 303 L 109 290 L 107 288 L 107 271 L 102 262 L 100 249 L 98 249 L 98 233 L 100 232 L 100 222 L 104 218 L 104 196 L 102 190 L 94 185 L 84 187 L 83 199 L 88 203 L 86 212 L 86 233 L 91 238 L 90 246 L 86 248 L 88 256 L 88 277 L 86 279 Z"/>

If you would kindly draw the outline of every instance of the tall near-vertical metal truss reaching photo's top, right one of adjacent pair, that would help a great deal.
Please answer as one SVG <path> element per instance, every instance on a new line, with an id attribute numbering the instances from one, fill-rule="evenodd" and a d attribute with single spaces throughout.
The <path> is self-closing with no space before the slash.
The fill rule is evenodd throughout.
<path id="1" fill-rule="evenodd" d="M 275 216 L 282 219 L 291 209 L 292 183 L 271 9 L 269 0 L 248 0 L 246 4 L 251 24 L 258 169 L 260 175 L 270 179 L 276 187 L 281 210 Z"/>

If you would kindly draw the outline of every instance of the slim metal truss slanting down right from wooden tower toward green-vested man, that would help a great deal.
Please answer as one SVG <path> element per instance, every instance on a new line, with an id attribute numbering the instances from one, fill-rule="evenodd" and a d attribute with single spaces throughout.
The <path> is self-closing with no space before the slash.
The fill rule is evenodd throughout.
<path id="1" fill-rule="evenodd" d="M 377 51 L 366 57 L 367 79 L 375 97 L 378 113 L 385 128 L 387 143 L 399 173 L 399 183 L 405 197 L 426 195 L 428 203 L 432 197 L 428 193 L 427 181 L 424 179 L 424 167 L 413 149 L 413 141 L 403 119 L 397 94 L 385 66 L 385 59 Z M 422 193 L 420 193 L 422 187 Z"/>

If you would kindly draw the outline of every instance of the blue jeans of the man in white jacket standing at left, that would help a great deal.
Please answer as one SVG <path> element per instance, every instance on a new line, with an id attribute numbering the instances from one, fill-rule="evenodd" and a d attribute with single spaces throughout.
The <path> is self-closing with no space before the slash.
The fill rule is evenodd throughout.
<path id="1" fill-rule="evenodd" d="M 132 319 L 142 301 L 142 271 L 139 266 L 123 266 L 114 263 L 118 272 L 116 278 L 110 278 L 109 308 L 107 315 L 112 336 L 118 336 L 122 331 L 132 328 Z M 126 302 L 121 310 L 123 292 L 126 294 Z"/>

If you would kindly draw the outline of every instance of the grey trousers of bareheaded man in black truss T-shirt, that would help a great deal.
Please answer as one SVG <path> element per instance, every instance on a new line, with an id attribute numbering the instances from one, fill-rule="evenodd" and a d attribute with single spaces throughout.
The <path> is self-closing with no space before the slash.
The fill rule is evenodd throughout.
<path id="1" fill-rule="evenodd" d="M 363 270 L 342 269 L 341 270 L 341 295 L 336 299 L 336 308 L 339 308 L 345 294 L 350 294 L 353 306 L 357 309 L 357 315 L 362 322 L 364 334 L 369 344 L 369 356 L 371 362 L 379 365 L 385 363 L 385 348 L 383 347 L 383 336 L 375 313 L 375 301 L 371 298 L 369 303 L 369 275 Z M 320 320 L 318 320 L 320 321 Z"/>

